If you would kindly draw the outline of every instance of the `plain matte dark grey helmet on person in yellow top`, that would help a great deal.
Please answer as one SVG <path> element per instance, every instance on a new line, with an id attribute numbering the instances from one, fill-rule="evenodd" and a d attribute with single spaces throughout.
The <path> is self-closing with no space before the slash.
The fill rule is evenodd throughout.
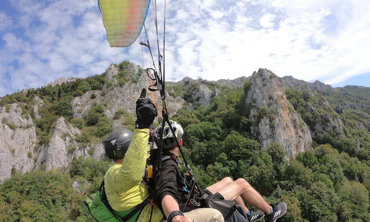
<path id="1" fill-rule="evenodd" d="M 116 129 L 104 139 L 105 154 L 110 159 L 125 157 L 131 138 L 134 133 L 128 129 Z"/>

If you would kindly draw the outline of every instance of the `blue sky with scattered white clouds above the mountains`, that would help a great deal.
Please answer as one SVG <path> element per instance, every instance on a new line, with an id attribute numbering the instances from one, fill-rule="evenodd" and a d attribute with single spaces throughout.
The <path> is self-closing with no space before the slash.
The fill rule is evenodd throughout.
<path id="1" fill-rule="evenodd" d="M 166 80 L 235 79 L 267 68 L 370 87 L 369 11 L 367 0 L 168 0 Z M 164 1 L 157 15 L 162 51 Z M 145 24 L 157 56 L 152 7 Z M 1 0 L 0 96 L 124 60 L 150 67 L 145 39 L 142 32 L 132 46 L 110 48 L 97 0 Z"/>

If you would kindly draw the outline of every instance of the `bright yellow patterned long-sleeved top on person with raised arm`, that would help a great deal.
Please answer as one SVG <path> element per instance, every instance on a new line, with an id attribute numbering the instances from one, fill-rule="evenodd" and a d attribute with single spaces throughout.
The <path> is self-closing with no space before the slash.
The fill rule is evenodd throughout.
<path id="1" fill-rule="evenodd" d="M 104 176 L 104 188 L 108 203 L 115 211 L 128 211 L 149 196 L 149 189 L 142 183 L 146 160 L 149 157 L 149 129 L 135 129 L 122 164 L 115 163 Z M 147 222 L 152 205 L 148 204 L 139 216 L 139 222 Z M 121 216 L 121 213 L 117 213 Z M 124 215 L 124 214 L 122 214 Z M 161 221 L 163 214 L 155 206 L 152 221 Z"/>

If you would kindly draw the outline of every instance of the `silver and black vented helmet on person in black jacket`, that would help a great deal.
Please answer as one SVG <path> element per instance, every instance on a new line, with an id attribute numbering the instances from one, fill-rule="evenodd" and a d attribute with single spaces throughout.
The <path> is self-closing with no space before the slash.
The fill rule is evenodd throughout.
<path id="1" fill-rule="evenodd" d="M 170 120 L 170 122 L 171 122 L 172 128 L 174 128 L 175 136 L 174 136 L 174 134 L 172 134 L 171 129 L 169 128 L 169 126 L 166 122 L 166 124 L 164 125 L 164 131 L 163 131 L 162 149 L 173 149 L 173 148 L 177 147 L 175 137 L 177 138 L 178 141 L 180 141 L 182 135 L 184 135 L 184 129 L 182 128 L 182 126 L 180 124 L 178 124 L 177 122 L 172 121 L 172 120 Z M 161 131 L 161 129 L 162 129 L 162 124 L 159 125 L 157 127 L 157 129 L 155 129 L 155 132 L 154 132 L 154 135 L 153 135 L 154 140 L 155 140 L 155 144 L 157 145 L 158 148 L 161 145 L 160 141 L 159 141 L 159 138 L 160 138 L 160 133 L 159 132 Z"/>

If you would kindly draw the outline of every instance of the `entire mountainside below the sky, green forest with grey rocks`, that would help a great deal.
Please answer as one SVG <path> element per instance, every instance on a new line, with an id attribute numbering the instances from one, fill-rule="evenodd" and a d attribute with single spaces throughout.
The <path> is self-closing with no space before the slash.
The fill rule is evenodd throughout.
<path id="1" fill-rule="evenodd" d="M 94 158 L 98 148 L 92 148 L 93 144 L 113 128 L 132 129 L 135 120 L 130 107 L 116 107 L 112 102 L 117 98 L 122 102 L 117 92 L 126 93 L 124 87 L 130 85 L 120 65 L 114 67 L 117 74 L 109 78 L 107 70 L 1 99 L 4 135 L 11 132 L 16 139 L 17 132 L 34 127 L 37 139 L 22 154 L 34 165 L 24 171 L 26 164 L 14 165 L 11 178 L 0 185 L 0 221 L 92 221 L 82 202 L 98 190 L 110 166 L 104 155 Z M 273 89 L 266 91 L 260 104 L 253 91 L 259 81 L 259 90 Z M 268 70 L 240 81 L 184 79 L 167 87 L 170 107 L 176 112 L 171 118 L 184 127 L 183 149 L 202 187 L 226 176 L 245 178 L 268 202 L 287 203 L 280 221 L 370 222 L 370 88 L 332 88 L 279 78 Z M 135 97 L 132 92 L 132 99 L 123 102 L 133 103 Z M 79 100 L 84 104 L 77 110 L 74 101 Z M 13 112 L 19 119 L 30 118 L 33 125 L 6 117 Z M 280 138 L 286 129 L 279 121 L 288 122 L 288 117 L 285 127 L 292 137 Z M 63 123 L 65 129 L 59 127 Z M 311 138 L 302 138 L 300 150 L 295 150 L 298 145 L 282 145 L 294 135 Z M 271 142 L 264 142 L 266 138 Z M 41 161 L 42 152 L 53 155 L 53 144 L 63 144 L 68 157 L 63 161 L 70 161 L 58 169 L 48 168 L 47 158 Z M 9 151 L 12 158 L 20 148 Z"/>

